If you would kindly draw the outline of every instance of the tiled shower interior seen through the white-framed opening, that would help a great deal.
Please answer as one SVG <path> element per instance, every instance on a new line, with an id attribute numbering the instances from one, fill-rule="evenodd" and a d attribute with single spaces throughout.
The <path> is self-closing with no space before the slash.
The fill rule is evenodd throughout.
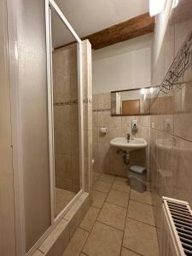
<path id="1" fill-rule="evenodd" d="M 79 193 L 79 42 L 50 8 L 55 143 L 55 217 Z"/>

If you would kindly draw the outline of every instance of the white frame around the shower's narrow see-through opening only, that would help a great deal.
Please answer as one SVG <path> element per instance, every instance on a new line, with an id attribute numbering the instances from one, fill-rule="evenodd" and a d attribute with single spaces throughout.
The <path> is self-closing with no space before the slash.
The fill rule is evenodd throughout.
<path id="1" fill-rule="evenodd" d="M 84 164 L 84 140 L 83 140 L 83 93 L 82 93 L 82 41 L 78 34 L 74 31 L 73 27 L 67 21 L 65 15 L 62 14 L 61 9 L 57 6 L 54 0 L 49 2 L 49 9 L 46 7 L 46 44 L 47 44 L 47 77 L 48 77 L 48 106 L 49 106 L 49 166 L 50 167 L 50 200 L 51 200 L 51 220 L 54 222 L 60 220 L 68 209 L 74 204 L 75 201 L 82 195 L 84 191 L 84 177 L 83 177 L 83 164 Z M 51 10 L 54 9 L 55 13 L 61 19 L 64 26 L 67 26 L 68 30 L 73 34 L 73 37 L 77 40 L 78 45 L 78 102 L 79 102 L 79 177 L 81 189 L 79 193 L 74 196 L 73 200 L 69 202 L 58 216 L 55 218 L 55 150 L 54 150 L 54 109 L 53 109 L 53 67 L 52 67 L 52 38 L 51 38 Z M 52 170 L 51 170 L 52 169 Z"/>

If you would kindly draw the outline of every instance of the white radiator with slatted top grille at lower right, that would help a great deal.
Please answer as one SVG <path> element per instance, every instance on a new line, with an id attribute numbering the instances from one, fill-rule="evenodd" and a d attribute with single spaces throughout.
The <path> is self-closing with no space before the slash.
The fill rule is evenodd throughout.
<path id="1" fill-rule="evenodd" d="M 192 255 L 192 211 L 189 203 L 163 197 L 161 256 Z"/>

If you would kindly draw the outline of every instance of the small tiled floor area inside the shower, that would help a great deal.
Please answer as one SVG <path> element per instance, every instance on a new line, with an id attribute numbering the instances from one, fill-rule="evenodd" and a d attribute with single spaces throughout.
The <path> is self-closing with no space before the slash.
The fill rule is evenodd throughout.
<path id="1" fill-rule="evenodd" d="M 65 189 L 55 188 L 55 213 L 58 215 L 62 209 L 73 199 L 75 193 Z"/>

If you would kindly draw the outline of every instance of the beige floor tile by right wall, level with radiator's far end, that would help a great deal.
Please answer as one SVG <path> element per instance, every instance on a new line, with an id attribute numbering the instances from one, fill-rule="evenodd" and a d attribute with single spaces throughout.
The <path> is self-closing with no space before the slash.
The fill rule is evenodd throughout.
<path id="1" fill-rule="evenodd" d="M 146 224 L 154 225 L 153 207 L 137 201 L 129 201 L 128 214 L 129 218 L 142 221 Z"/>

